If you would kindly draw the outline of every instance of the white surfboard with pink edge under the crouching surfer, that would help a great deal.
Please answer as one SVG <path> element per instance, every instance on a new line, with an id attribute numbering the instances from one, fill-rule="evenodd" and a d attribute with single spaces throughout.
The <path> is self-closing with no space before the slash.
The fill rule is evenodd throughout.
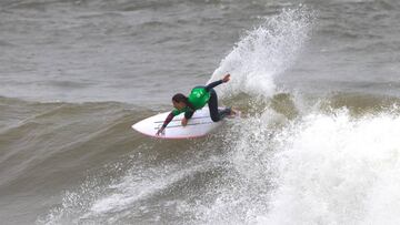
<path id="1" fill-rule="evenodd" d="M 219 109 L 223 110 L 223 108 Z M 139 121 L 132 125 L 132 129 L 144 135 L 158 139 L 194 139 L 209 134 L 223 122 L 223 120 L 213 122 L 210 117 L 209 109 L 203 108 L 194 112 L 186 126 L 182 126 L 181 124 L 181 121 L 184 116 L 184 113 L 181 113 L 173 117 L 173 120 L 164 129 L 162 135 L 156 135 L 157 131 L 162 126 L 169 113 L 170 112 L 160 113 Z"/>

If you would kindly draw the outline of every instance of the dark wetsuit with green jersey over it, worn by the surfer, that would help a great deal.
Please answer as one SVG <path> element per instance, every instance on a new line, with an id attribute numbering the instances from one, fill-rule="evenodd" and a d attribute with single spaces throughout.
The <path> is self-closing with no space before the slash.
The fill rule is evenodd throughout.
<path id="1" fill-rule="evenodd" d="M 162 129 L 164 129 L 176 115 L 179 115 L 183 112 L 184 117 L 190 119 L 196 110 L 200 110 L 207 103 L 209 105 L 210 116 L 213 122 L 218 122 L 226 115 L 229 115 L 231 113 L 231 110 L 229 108 L 222 111 L 218 110 L 218 96 L 213 88 L 221 83 L 223 83 L 222 80 L 219 80 L 208 84 L 207 86 L 196 86 L 194 89 L 192 89 L 188 99 L 194 109 L 191 109 L 187 105 L 182 110 L 172 110 L 172 112 L 167 116 L 164 123 L 162 124 Z"/>

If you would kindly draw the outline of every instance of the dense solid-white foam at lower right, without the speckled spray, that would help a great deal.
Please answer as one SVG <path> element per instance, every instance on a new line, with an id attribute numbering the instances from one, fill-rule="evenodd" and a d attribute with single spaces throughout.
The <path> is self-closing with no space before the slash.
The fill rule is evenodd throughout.
<path id="1" fill-rule="evenodd" d="M 400 117 L 310 114 L 282 132 L 261 224 L 400 223 Z"/>

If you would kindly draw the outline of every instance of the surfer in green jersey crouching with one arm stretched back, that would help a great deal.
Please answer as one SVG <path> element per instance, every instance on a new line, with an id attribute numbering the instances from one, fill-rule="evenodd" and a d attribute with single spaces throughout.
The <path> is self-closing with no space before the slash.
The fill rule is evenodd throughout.
<path id="1" fill-rule="evenodd" d="M 176 115 L 179 115 L 184 112 L 184 117 L 182 119 L 181 123 L 183 126 L 188 124 L 188 120 L 193 115 L 196 110 L 200 110 L 207 103 L 210 110 L 210 116 L 213 122 L 218 122 L 227 115 L 233 114 L 234 112 L 227 108 L 224 110 L 218 110 L 218 96 L 217 92 L 213 90 L 217 85 L 221 83 L 227 83 L 230 79 L 230 74 L 223 76 L 223 79 L 219 81 L 214 81 L 207 86 L 196 86 L 191 90 L 189 96 L 184 94 L 178 93 L 172 96 L 172 104 L 173 110 L 167 116 L 166 121 L 163 122 L 161 129 L 157 131 L 156 135 L 162 134 L 163 130 L 167 125 L 172 121 Z"/>

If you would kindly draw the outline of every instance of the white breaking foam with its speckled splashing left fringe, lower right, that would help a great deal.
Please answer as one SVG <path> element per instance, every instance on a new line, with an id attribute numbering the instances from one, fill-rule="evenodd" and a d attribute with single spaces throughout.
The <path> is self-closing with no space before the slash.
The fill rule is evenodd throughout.
<path id="1" fill-rule="evenodd" d="M 276 127 L 280 117 L 267 109 L 233 125 L 229 182 L 213 187 L 211 204 L 190 208 L 197 222 L 400 223 L 399 114 L 316 110 Z"/>

